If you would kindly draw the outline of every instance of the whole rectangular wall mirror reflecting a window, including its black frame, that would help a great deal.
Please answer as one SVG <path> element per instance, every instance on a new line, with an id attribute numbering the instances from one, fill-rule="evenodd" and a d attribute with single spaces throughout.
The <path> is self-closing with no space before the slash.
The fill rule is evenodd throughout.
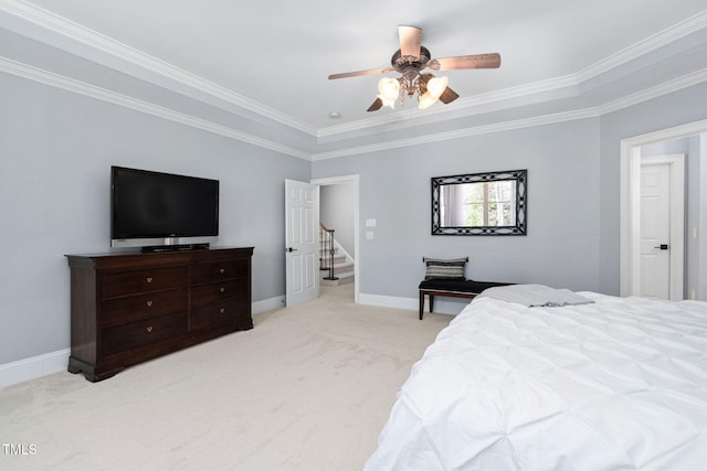
<path id="1" fill-rule="evenodd" d="M 432 179 L 432 235 L 526 235 L 528 171 Z"/>

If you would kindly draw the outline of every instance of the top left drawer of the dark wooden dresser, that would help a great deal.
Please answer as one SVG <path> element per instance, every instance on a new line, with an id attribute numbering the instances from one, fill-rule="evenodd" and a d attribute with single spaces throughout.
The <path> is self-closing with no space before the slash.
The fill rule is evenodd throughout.
<path id="1" fill-rule="evenodd" d="M 186 288 L 187 267 L 152 268 L 106 274 L 103 277 L 103 298 L 138 295 L 170 288 Z"/>

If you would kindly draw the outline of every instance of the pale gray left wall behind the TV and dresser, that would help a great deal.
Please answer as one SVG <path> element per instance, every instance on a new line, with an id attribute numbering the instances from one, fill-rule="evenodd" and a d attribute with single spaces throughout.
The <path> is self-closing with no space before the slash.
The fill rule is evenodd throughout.
<path id="1" fill-rule="evenodd" d="M 0 365 L 70 345 L 64 254 L 109 248 L 112 164 L 219 179 L 222 246 L 254 246 L 253 300 L 285 292 L 284 180 L 310 163 L 0 74 Z"/>

